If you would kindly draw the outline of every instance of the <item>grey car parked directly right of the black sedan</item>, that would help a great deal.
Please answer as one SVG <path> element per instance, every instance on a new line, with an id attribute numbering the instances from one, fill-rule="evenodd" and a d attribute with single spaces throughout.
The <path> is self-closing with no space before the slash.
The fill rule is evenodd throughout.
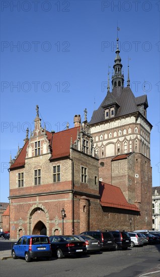
<path id="1" fill-rule="evenodd" d="M 89 235 L 74 235 L 74 237 L 86 243 L 87 252 L 97 252 L 101 249 L 100 241 Z"/>

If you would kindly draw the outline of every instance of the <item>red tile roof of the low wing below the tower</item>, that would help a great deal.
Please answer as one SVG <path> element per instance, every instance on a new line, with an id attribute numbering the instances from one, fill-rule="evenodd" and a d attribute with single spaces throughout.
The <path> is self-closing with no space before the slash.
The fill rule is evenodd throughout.
<path id="1" fill-rule="evenodd" d="M 102 206 L 117 207 L 119 209 L 139 211 L 138 207 L 134 204 L 127 202 L 119 187 L 100 182 L 100 203 Z"/>

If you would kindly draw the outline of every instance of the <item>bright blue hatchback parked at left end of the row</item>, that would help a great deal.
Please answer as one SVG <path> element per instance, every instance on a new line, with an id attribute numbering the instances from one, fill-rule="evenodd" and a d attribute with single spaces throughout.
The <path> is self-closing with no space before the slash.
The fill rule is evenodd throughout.
<path id="1" fill-rule="evenodd" d="M 12 248 L 12 256 L 14 259 L 24 257 L 27 262 L 30 262 L 32 258 L 49 258 L 51 255 L 52 251 L 49 238 L 43 235 L 22 236 Z"/>

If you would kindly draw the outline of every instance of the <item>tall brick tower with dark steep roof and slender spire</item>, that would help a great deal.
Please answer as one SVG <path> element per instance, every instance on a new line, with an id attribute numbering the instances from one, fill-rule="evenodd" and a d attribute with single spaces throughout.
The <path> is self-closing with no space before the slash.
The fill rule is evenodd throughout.
<path id="1" fill-rule="evenodd" d="M 135 97 L 131 91 L 129 65 L 127 87 L 124 87 L 119 53 L 117 39 L 112 92 L 108 75 L 107 95 L 89 123 L 94 148 L 100 158 L 100 180 L 121 188 L 128 203 L 140 210 L 141 216 L 136 220 L 139 229 L 151 230 L 152 125 L 147 120 L 147 96 Z"/>

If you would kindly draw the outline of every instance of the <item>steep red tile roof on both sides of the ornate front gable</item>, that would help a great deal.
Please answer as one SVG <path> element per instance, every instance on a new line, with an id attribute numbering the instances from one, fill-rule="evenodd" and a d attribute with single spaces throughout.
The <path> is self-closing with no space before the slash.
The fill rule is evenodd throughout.
<path id="1" fill-rule="evenodd" d="M 60 131 L 57 133 L 51 133 L 46 131 L 48 141 L 51 146 L 51 158 L 50 160 L 67 157 L 70 153 L 70 140 L 72 137 L 72 143 L 77 138 L 77 129 L 80 130 L 80 127 L 73 127 L 64 131 Z M 26 142 L 24 147 L 22 148 L 19 156 L 13 165 L 11 165 L 10 169 L 18 168 L 25 165 L 26 158 L 26 150 L 29 142 Z"/>

